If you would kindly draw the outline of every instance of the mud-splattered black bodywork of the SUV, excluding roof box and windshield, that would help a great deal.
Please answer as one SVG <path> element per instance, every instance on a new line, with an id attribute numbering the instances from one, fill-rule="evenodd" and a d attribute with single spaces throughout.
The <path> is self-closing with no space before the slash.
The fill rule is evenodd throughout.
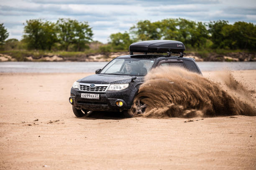
<path id="1" fill-rule="evenodd" d="M 175 57 L 166 55 L 123 55 L 116 57 L 105 67 L 111 65 L 115 60 L 150 60 L 152 68 L 160 65 L 182 66 L 192 72 L 202 74 L 195 60 L 187 57 Z M 104 68 L 105 68 L 104 67 Z M 104 70 L 104 68 L 102 70 Z M 77 117 L 83 116 L 82 110 L 86 114 L 89 110 L 120 111 L 130 110 L 133 99 L 136 96 L 140 85 L 144 82 L 144 75 L 115 75 L 105 74 L 102 70 L 97 70 L 95 75 L 90 75 L 77 80 L 77 86 L 71 88 L 69 101 L 73 106 L 73 111 Z M 171 74 L 171 73 L 170 73 Z M 111 90 L 110 85 L 128 85 L 123 90 Z M 83 96 L 86 94 L 87 96 Z M 95 97 L 94 94 L 97 94 Z M 90 96 L 91 95 L 91 96 Z M 120 105 L 121 103 L 121 105 Z M 77 115 L 76 111 L 81 111 Z"/>

